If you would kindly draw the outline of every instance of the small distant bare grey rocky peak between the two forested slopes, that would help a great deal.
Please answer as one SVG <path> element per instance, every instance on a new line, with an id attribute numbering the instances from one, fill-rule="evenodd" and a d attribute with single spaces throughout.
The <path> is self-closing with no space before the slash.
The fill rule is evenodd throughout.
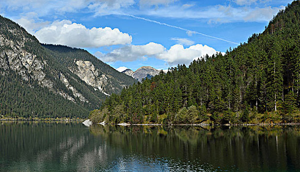
<path id="1" fill-rule="evenodd" d="M 134 72 L 131 69 L 126 69 L 122 73 L 132 76 L 137 81 L 142 82 L 142 80 L 145 78 L 151 79 L 155 75 L 158 75 L 160 70 L 157 70 L 151 66 L 142 66 Z"/>

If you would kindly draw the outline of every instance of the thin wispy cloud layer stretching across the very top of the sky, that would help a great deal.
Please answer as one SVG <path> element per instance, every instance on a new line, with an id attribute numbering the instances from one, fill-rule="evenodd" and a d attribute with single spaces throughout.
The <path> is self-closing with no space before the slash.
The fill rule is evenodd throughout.
<path id="1" fill-rule="evenodd" d="M 209 23 L 267 22 L 272 19 L 281 7 L 250 7 L 250 6 L 226 6 L 214 5 L 205 8 L 197 7 L 195 4 L 177 4 L 178 0 L 2 0 L 0 6 L 7 11 L 17 11 L 23 15 L 35 12 L 38 17 L 62 16 L 66 12 L 89 12 L 95 16 L 103 15 L 148 15 L 164 18 L 188 18 L 206 19 Z M 231 0 L 238 5 L 249 5 L 253 3 L 265 3 L 269 0 Z M 149 8 L 138 8 L 147 6 Z M 152 6 L 155 6 L 154 8 Z M 158 8 L 160 6 L 160 8 Z M 191 8 L 193 6 L 193 8 Z M 262 9 L 262 10 L 260 10 Z M 259 15 L 252 15 L 259 12 Z M 271 13 L 271 14 L 270 14 Z M 247 20 L 252 16 L 251 20 Z M 271 17 L 270 17 L 271 16 Z"/>

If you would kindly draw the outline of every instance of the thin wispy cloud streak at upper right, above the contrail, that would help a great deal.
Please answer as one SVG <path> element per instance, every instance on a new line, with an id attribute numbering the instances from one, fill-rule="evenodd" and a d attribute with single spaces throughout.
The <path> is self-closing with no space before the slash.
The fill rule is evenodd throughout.
<path id="1" fill-rule="evenodd" d="M 231 5 L 215 5 L 206 8 L 184 9 L 181 6 L 170 5 L 164 8 L 148 9 L 144 11 L 133 11 L 134 15 L 147 15 L 165 18 L 185 18 L 185 19 L 205 19 L 208 23 L 230 23 L 230 22 L 268 22 L 273 15 L 283 7 L 233 7 Z M 252 15 L 252 13 L 259 15 Z M 252 16 L 251 20 L 247 20 L 248 16 Z M 190 33 L 191 34 L 191 33 Z"/>

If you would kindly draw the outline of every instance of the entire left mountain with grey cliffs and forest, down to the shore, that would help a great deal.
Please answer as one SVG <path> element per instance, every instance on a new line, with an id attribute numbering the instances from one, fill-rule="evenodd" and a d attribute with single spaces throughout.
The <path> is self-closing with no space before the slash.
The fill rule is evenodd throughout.
<path id="1" fill-rule="evenodd" d="M 87 51 L 40 44 L 0 16 L 0 115 L 86 117 L 136 81 Z"/>

